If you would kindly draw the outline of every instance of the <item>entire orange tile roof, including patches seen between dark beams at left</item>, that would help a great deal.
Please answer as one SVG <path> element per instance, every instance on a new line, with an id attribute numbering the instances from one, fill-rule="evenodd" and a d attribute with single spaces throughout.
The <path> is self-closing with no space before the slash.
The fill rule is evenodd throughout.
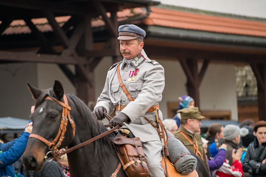
<path id="1" fill-rule="evenodd" d="M 148 26 L 155 25 L 198 31 L 266 37 L 266 22 L 218 17 L 159 7 L 151 7 L 150 9 L 152 12 L 149 17 L 142 20 L 142 22 Z M 118 21 L 122 21 L 143 14 L 146 14 L 146 12 L 144 12 L 142 8 L 137 7 L 117 12 L 117 17 Z M 107 13 L 107 16 L 110 17 L 110 13 Z M 62 26 L 69 18 L 70 16 L 56 17 L 56 21 Z M 52 27 L 49 25 L 46 18 L 32 19 L 32 22 L 42 32 L 52 31 Z M 105 22 L 99 17 L 92 20 L 91 24 L 93 27 L 98 27 L 103 26 Z M 14 20 L 2 35 L 22 33 L 31 33 L 31 30 L 23 20 Z"/>

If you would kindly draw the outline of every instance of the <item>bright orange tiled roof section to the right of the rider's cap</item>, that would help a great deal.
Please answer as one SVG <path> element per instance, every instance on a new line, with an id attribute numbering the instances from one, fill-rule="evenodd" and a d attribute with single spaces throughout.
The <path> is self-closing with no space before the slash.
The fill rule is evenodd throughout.
<path id="1" fill-rule="evenodd" d="M 266 37 L 266 22 L 218 17 L 158 7 L 151 7 L 151 11 L 149 17 L 143 21 L 146 25 Z"/>

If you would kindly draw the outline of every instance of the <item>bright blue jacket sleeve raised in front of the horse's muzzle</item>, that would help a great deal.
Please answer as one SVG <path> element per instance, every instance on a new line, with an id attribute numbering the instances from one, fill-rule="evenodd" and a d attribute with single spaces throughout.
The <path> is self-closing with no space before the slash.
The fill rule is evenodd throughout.
<path id="1" fill-rule="evenodd" d="M 26 149 L 29 135 L 30 133 L 24 132 L 14 145 L 8 149 L 8 151 L 0 153 L 0 159 L 3 163 L 0 165 L 0 169 L 13 164 L 22 156 Z"/>

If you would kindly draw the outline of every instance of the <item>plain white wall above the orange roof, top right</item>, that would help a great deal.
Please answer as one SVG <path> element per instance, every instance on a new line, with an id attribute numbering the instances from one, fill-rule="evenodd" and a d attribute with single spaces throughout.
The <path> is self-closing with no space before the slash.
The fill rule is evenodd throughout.
<path id="1" fill-rule="evenodd" d="M 265 0 L 160 0 L 161 4 L 266 18 Z"/>

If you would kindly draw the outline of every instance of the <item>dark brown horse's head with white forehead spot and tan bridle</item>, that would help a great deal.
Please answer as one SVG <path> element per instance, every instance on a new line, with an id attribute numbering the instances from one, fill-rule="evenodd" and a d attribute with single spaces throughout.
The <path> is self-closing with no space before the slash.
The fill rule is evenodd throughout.
<path id="1" fill-rule="evenodd" d="M 73 122 L 70 126 L 69 111 L 75 104 L 66 98 L 62 84 L 57 80 L 53 89 L 39 90 L 30 84 L 28 89 L 36 103 L 30 115 L 32 134 L 22 155 L 22 163 L 27 170 L 41 170 L 47 156 L 56 154 L 73 141 L 75 129 L 72 130 Z"/>

